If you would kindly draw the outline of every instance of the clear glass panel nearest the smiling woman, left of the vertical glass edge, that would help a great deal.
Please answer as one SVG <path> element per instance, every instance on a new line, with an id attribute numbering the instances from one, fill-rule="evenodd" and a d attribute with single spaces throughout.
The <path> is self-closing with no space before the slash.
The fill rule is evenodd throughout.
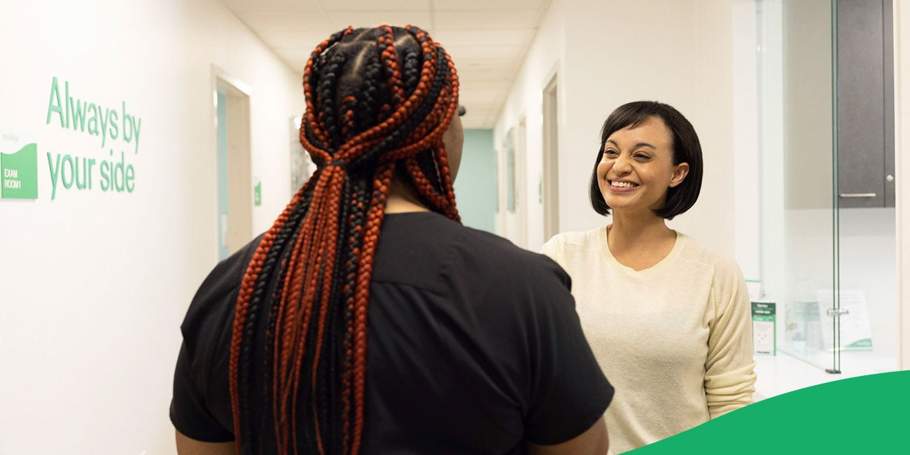
<path id="1" fill-rule="evenodd" d="M 776 306 L 781 354 L 839 373 L 836 5 L 756 5 L 760 299 Z"/>

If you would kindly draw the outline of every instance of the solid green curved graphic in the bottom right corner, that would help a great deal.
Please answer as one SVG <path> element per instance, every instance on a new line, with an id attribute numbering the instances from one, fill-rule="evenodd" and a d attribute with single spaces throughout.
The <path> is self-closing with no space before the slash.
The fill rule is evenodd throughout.
<path id="1" fill-rule="evenodd" d="M 910 371 L 895 371 L 764 399 L 627 453 L 910 453 L 908 431 Z"/>

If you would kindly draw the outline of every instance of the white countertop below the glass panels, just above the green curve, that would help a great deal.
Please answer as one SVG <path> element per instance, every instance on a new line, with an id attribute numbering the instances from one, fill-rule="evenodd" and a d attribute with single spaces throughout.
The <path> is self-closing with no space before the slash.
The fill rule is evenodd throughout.
<path id="1" fill-rule="evenodd" d="M 831 367 L 828 362 L 827 368 Z M 885 373 L 897 369 L 894 356 L 875 355 L 875 352 L 844 352 L 841 354 L 841 374 L 831 374 L 804 360 L 780 353 L 776 356 L 755 356 L 754 400 L 771 398 L 796 389 L 824 382 L 854 378 L 867 374 Z"/>

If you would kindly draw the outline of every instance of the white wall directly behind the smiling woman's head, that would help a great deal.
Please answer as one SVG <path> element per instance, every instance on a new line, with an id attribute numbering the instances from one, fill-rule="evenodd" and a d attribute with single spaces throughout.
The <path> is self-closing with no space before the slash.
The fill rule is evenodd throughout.
<path id="1" fill-rule="evenodd" d="M 733 246 L 732 5 L 724 0 L 554 1 L 497 123 L 497 143 L 528 120 L 526 190 L 541 168 L 541 91 L 559 71 L 560 228 L 608 219 L 591 209 L 588 184 L 603 120 L 623 103 L 677 107 L 702 141 L 702 195 L 672 226 L 730 256 Z M 533 120 L 533 121 L 531 121 Z M 533 198 L 535 201 L 536 197 Z M 526 246 L 542 243 L 542 210 L 531 205 Z M 510 232 L 503 232 L 511 237 Z"/>

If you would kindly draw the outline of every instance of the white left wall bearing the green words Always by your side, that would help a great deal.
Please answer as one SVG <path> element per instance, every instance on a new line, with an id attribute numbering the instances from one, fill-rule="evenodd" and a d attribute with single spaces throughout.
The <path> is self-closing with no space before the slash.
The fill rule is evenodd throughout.
<path id="1" fill-rule="evenodd" d="M 39 195 L 0 200 L 0 453 L 173 453 L 178 327 L 217 258 L 211 65 L 251 92 L 255 231 L 288 200 L 300 78 L 215 0 L 3 9 L 0 125 L 36 138 Z M 142 119 L 137 153 L 110 138 L 102 148 L 56 115 L 47 124 L 54 76 L 75 98 L 126 102 Z M 47 153 L 101 160 L 110 149 L 135 167 L 133 193 L 58 187 L 50 199 Z"/>

